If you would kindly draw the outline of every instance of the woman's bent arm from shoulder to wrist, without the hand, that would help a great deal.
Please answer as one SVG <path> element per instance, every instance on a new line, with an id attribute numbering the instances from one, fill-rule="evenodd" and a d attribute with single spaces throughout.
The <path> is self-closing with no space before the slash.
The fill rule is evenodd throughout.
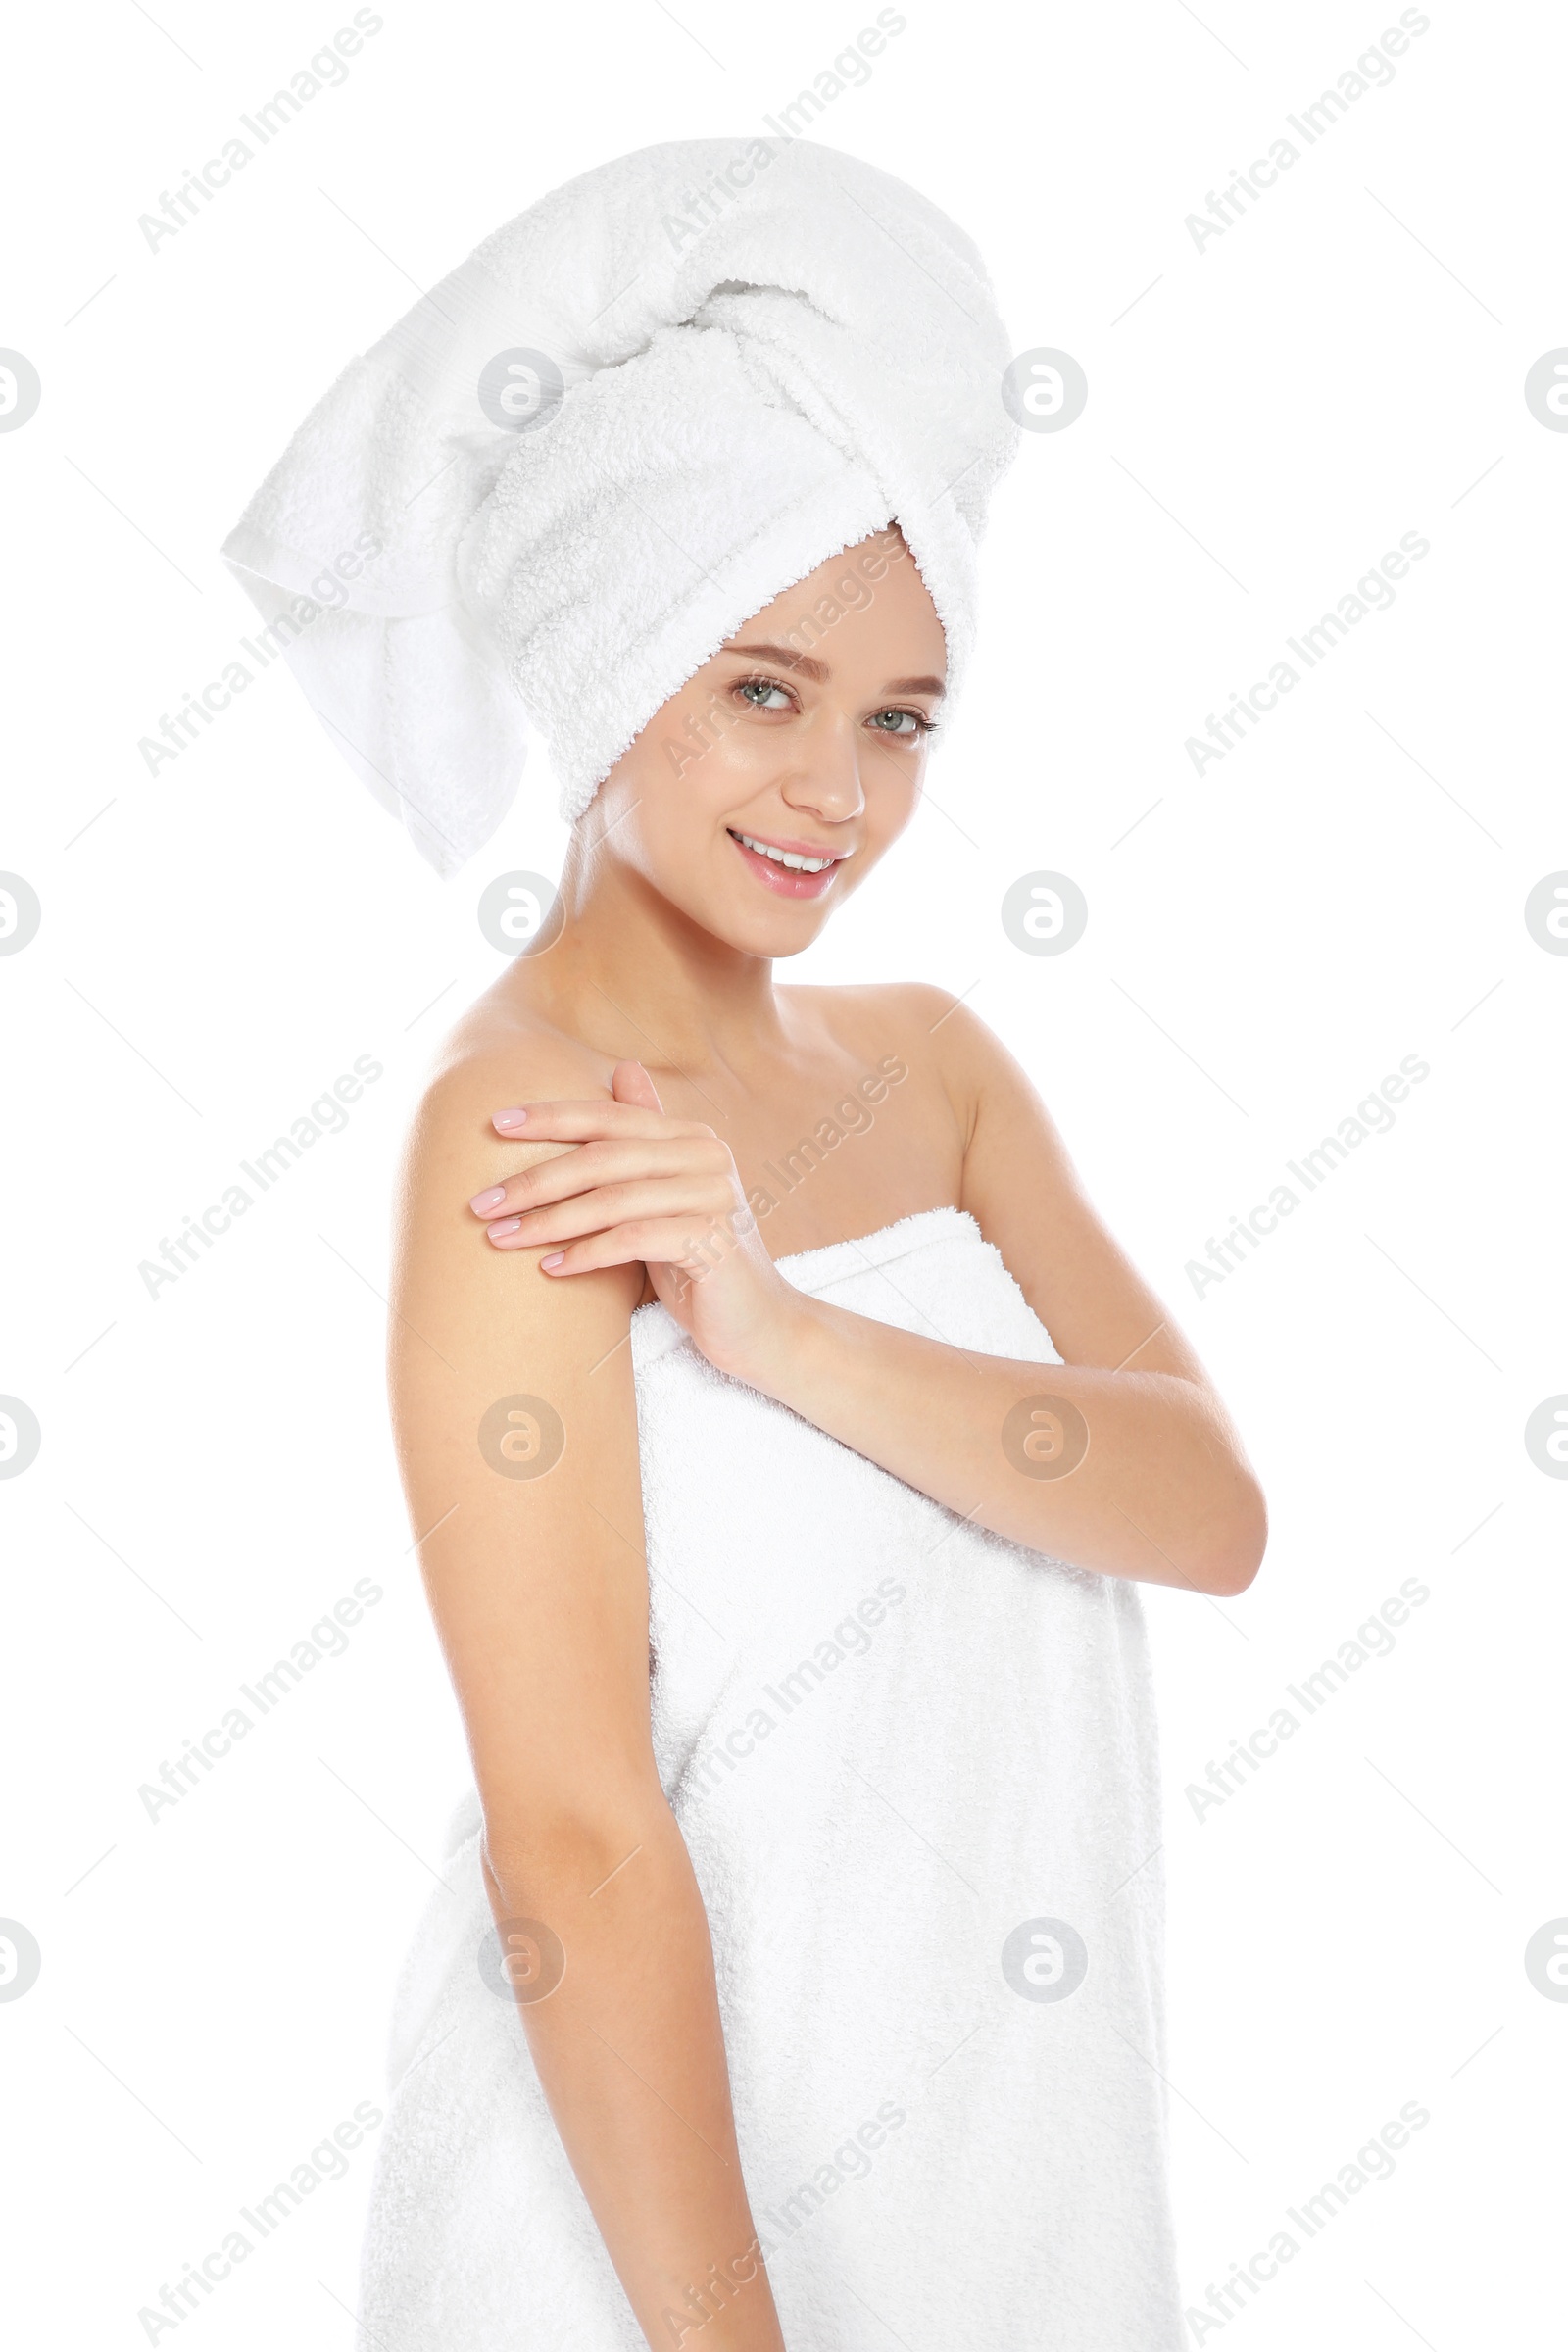
<path id="1" fill-rule="evenodd" d="M 1107 1576 L 1244 1592 L 1267 1515 L 1208 1374 L 1095 1216 L 1013 1056 L 961 1007 L 936 1037 L 966 1117 L 959 1207 L 1063 1364 L 973 1355 L 802 1298 L 748 1378 L 999 1536 Z"/>

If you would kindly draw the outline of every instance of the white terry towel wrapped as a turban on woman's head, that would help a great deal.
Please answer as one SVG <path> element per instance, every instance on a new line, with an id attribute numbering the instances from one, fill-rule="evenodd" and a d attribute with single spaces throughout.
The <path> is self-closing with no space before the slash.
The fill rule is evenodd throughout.
<path id="1" fill-rule="evenodd" d="M 585 172 L 310 409 L 223 543 L 376 800 L 454 873 L 529 722 L 562 816 L 743 621 L 898 522 L 947 637 L 1018 445 L 971 240 L 806 139 Z"/>

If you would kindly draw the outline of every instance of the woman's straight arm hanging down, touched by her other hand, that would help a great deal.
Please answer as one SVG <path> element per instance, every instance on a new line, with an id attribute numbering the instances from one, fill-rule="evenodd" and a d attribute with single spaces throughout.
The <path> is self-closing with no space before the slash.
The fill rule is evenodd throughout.
<path id="1" fill-rule="evenodd" d="M 628 1343 L 642 1268 L 550 1282 L 538 1251 L 487 1244 L 468 1197 L 562 1150 L 496 1136 L 491 1112 L 520 1089 L 609 1094 L 559 1056 L 475 1054 L 435 1080 L 409 1143 L 390 1317 L 409 1515 L 524 2032 L 609 2258 L 649 2345 L 780 2352 L 708 1917 L 649 1733 Z M 557 1416 L 548 1468 L 555 1425 L 510 1399 Z M 536 1924 L 564 1955 L 552 1990 Z"/>

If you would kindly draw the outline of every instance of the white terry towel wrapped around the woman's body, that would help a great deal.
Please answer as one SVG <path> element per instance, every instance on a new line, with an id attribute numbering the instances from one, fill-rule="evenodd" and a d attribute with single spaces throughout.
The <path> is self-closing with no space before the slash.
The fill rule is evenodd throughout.
<path id="1" fill-rule="evenodd" d="M 858 1315 L 1060 1362 L 959 1209 L 778 1263 Z M 1175 2352 L 1135 1585 L 966 1524 L 717 1374 L 661 1305 L 632 1362 L 656 1757 L 790 2352 Z M 642 2352 L 480 1973 L 477 1837 L 470 1797 L 404 1971 L 364 2345 Z"/>

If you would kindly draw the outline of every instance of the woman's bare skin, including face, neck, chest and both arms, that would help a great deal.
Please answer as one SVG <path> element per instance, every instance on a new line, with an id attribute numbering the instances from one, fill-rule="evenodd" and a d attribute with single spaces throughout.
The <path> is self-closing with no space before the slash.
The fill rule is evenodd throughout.
<path id="1" fill-rule="evenodd" d="M 896 532 L 745 623 L 602 783 L 559 920 L 454 1030 L 407 1155 L 393 1414 L 487 1886 L 503 1926 L 545 1922 L 564 1947 L 548 1997 L 520 1964 L 524 2030 L 661 2347 L 783 2336 L 708 1919 L 651 1752 L 635 1308 L 663 1301 L 724 1371 L 1063 1559 L 1234 1595 L 1265 1548 L 1225 1406 L 990 1030 L 926 985 L 773 981 L 910 823 L 943 675 Z M 835 863 L 809 880 L 736 835 Z M 893 1331 L 776 1270 L 938 1207 L 997 1244 L 1060 1367 Z M 559 1416 L 543 1475 L 498 1475 L 475 1439 L 517 1397 Z M 517 1414 L 531 1468 L 552 1423 Z M 1020 1446 L 1070 1470 L 1030 1472 Z"/>

